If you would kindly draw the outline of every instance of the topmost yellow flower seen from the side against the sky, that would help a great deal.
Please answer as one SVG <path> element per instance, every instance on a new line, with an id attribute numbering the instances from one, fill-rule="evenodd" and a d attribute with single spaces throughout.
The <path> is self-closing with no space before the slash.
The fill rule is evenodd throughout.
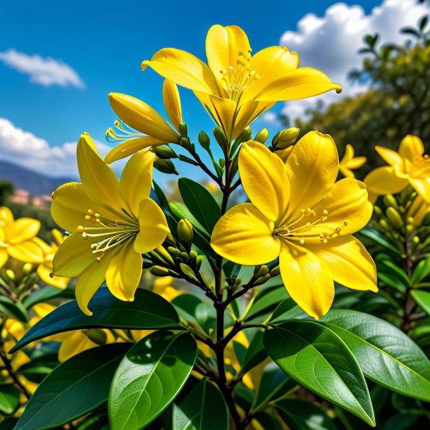
<path id="1" fill-rule="evenodd" d="M 229 141 L 276 102 L 341 91 L 321 71 L 297 68 L 299 57 L 286 48 L 268 47 L 251 56 L 247 35 L 235 25 L 209 29 L 206 55 L 209 67 L 187 51 L 165 48 L 143 61 L 142 70 L 149 66 L 192 90 Z"/>

